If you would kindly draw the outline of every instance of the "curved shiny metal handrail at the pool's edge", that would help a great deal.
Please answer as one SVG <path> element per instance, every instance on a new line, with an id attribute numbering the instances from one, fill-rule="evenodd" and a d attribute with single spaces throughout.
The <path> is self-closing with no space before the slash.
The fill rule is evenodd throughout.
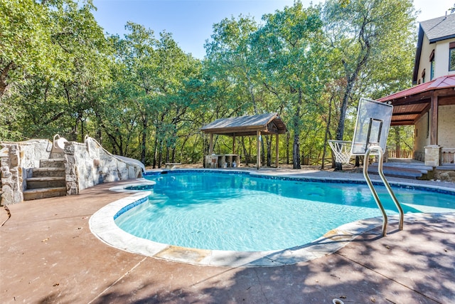
<path id="1" fill-rule="evenodd" d="M 368 149 L 365 151 L 365 159 L 368 159 L 370 157 L 370 153 L 373 151 L 378 151 L 379 154 L 379 162 L 378 162 L 378 173 L 380 178 L 382 179 L 382 182 L 385 185 L 385 188 L 387 189 L 387 192 L 389 193 L 390 197 L 392 197 L 392 201 L 395 203 L 395 206 L 397 206 L 398 211 L 400 212 L 400 223 L 398 225 L 400 230 L 403 230 L 403 222 L 405 219 L 405 213 L 403 212 L 403 209 L 400 205 L 400 203 L 397 200 L 397 197 L 392 191 L 392 188 L 390 187 L 390 184 L 387 182 L 387 179 L 385 179 L 384 172 L 382 172 L 382 164 L 384 162 L 384 152 L 382 151 L 382 148 L 379 146 L 372 146 L 368 147 Z M 365 180 L 367 181 L 368 188 L 370 188 L 371 193 L 373 194 L 373 197 L 375 198 L 376 204 L 378 205 L 381 213 L 382 213 L 382 236 L 387 235 L 387 214 L 385 213 L 385 209 L 381 204 L 381 201 L 379 199 L 378 193 L 375 190 L 375 187 L 373 187 L 373 182 L 371 182 L 371 179 L 368 175 L 368 161 L 365 161 L 363 164 L 363 177 L 365 177 Z"/>

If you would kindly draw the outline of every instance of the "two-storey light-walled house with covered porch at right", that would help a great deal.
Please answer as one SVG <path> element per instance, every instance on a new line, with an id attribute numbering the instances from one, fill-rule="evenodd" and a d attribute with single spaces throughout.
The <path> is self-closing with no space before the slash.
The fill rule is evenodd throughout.
<path id="1" fill-rule="evenodd" d="M 414 125 L 414 159 L 454 164 L 455 14 L 420 23 L 412 83 L 378 101 L 394 106 L 391 125 Z"/>

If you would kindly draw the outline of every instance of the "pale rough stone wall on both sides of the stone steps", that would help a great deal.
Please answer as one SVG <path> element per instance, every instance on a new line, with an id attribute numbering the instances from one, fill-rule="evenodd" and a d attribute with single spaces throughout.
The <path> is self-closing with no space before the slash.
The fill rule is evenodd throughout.
<path id="1" fill-rule="evenodd" d="M 0 142 L 0 205 L 23 201 L 27 178 L 33 168 L 40 167 L 41 159 L 49 159 L 53 143 L 49 140 Z M 65 180 L 67 195 L 104 182 L 141 177 L 141 167 L 117 159 L 104 150 L 96 140 L 86 143 L 65 142 Z"/>

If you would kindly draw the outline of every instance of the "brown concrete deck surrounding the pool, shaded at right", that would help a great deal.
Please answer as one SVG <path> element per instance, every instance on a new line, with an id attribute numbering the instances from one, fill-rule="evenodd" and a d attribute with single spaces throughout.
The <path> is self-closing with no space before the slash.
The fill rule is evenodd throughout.
<path id="1" fill-rule="evenodd" d="M 362 179 L 361 174 L 264 173 Z M 388 179 L 412 184 L 454 183 Z M 405 216 L 312 261 L 278 267 L 194 266 L 128 253 L 89 229 L 102 206 L 129 196 L 101 184 L 77 196 L 9 205 L 0 227 L 2 303 L 455 303 L 455 214 Z M 0 223 L 7 219 L 0 211 Z"/>

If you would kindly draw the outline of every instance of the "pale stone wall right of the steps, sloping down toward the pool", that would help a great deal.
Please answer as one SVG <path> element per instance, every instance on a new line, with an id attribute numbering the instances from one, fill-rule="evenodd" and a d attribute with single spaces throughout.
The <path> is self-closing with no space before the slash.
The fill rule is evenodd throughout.
<path id="1" fill-rule="evenodd" d="M 141 177 L 139 166 L 117 159 L 91 137 L 85 143 L 65 142 L 65 163 L 68 195 L 96 184 Z"/>

